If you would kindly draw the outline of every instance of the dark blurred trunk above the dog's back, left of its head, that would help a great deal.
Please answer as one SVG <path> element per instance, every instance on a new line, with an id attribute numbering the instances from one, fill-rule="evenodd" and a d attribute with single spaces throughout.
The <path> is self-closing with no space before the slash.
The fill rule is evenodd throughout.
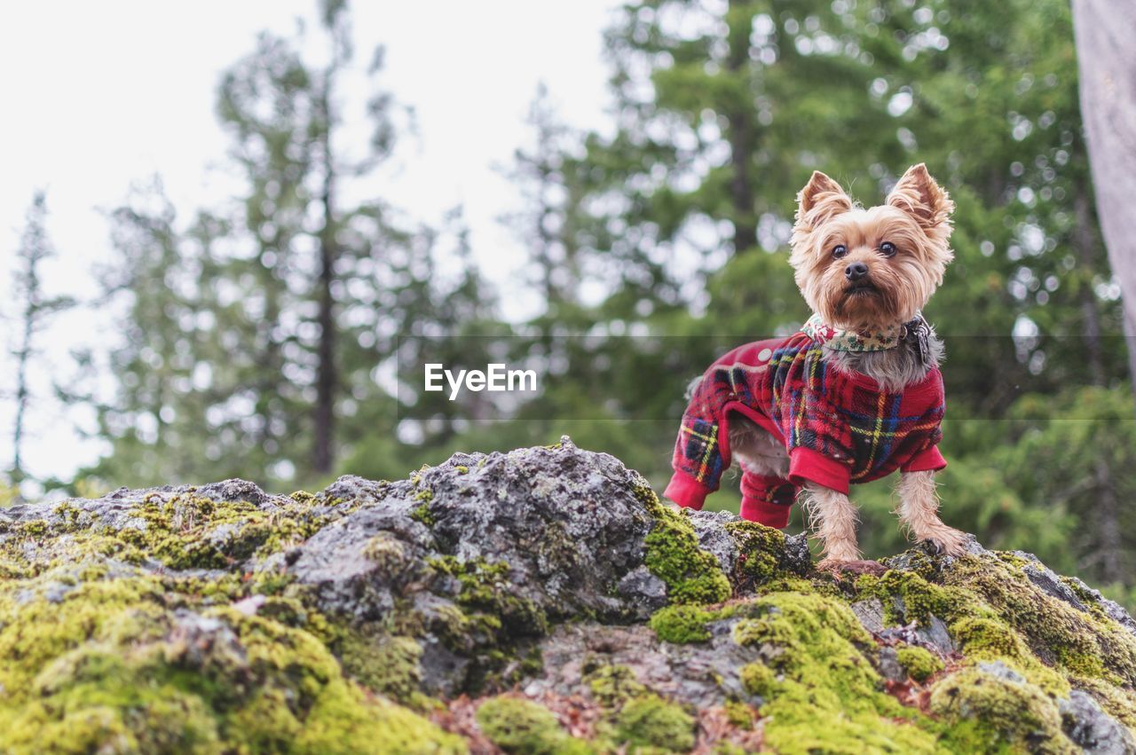
<path id="1" fill-rule="evenodd" d="M 735 81 L 746 82 L 749 92 L 750 33 L 753 28 L 751 0 L 730 0 L 727 11 L 729 54 L 726 68 Z M 753 128 L 753 98 L 738 98 L 729 112 L 729 151 L 733 175 L 729 179 L 730 205 L 734 210 L 734 253 L 750 251 L 758 245 L 758 228 L 754 217 L 753 179 L 751 166 L 757 151 L 757 133 Z"/>

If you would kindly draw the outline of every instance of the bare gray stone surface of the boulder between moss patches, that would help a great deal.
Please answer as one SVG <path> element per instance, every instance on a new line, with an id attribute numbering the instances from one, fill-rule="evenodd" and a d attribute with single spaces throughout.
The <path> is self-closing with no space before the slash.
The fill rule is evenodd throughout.
<path id="1" fill-rule="evenodd" d="M 226 519 L 203 527 L 201 532 L 202 543 L 228 559 L 222 560 L 223 568 L 178 576 L 279 579 L 291 590 L 290 596 L 318 607 L 340 629 L 358 630 L 365 637 L 390 634 L 412 638 L 408 641 L 420 648 L 415 671 L 421 690 L 445 698 L 482 691 L 481 682 L 492 674 L 498 674 L 492 677 L 493 685 L 507 688 L 517 683 L 534 697 L 586 696 L 585 679 L 591 672 L 621 665 L 654 693 L 699 710 L 727 701 L 759 705 L 762 701 L 742 686 L 741 670 L 753 662 L 783 668 L 778 657 L 785 649 L 769 644 L 738 645 L 732 631 L 741 614 L 710 621 L 707 641 L 684 645 L 659 640 L 645 624 L 668 602 L 667 585 L 645 564 L 645 539 L 657 525 L 648 489 L 638 473 L 615 458 L 582 451 L 565 439 L 557 446 L 510 453 L 454 454 L 401 481 L 342 477 L 312 496 L 310 504 L 302 498 L 299 506 L 291 497 L 267 494 L 244 480 L 200 487 L 122 488 L 98 500 L 67 501 L 65 506 L 20 504 L 0 511 L 0 543 L 9 544 L 26 562 L 22 565 L 39 568 L 68 553 L 76 527 L 144 530 L 148 522 L 142 506 L 148 501 L 170 504 L 175 518 L 193 515 L 192 506 L 186 505 L 192 496 L 244 502 L 260 518 L 287 509 L 289 515 L 304 518 L 308 528 L 302 537 L 266 555 L 252 555 L 254 548 L 247 548 L 229 556 L 237 553 L 232 546 L 240 543 L 248 522 L 242 520 L 247 514 Z M 302 513 L 296 514 L 296 510 Z M 735 515 L 683 515 L 700 547 L 733 579 L 735 597 L 762 589 L 753 584 L 755 577 L 745 577 L 744 570 L 737 569 L 738 545 L 727 528 L 737 521 Z M 251 520 L 251 514 L 248 517 Z M 50 537 L 27 537 L 11 527 L 31 521 L 59 526 L 58 531 Z M 991 554 L 974 538 L 968 540 L 967 551 L 1004 563 L 1004 555 Z M 775 555 L 778 570 L 816 578 L 812 585 L 818 590 L 855 594 L 847 582 L 817 578 L 803 536 L 787 537 L 784 550 Z M 1036 599 L 1054 598 L 1077 611 L 1103 612 L 1136 632 L 1136 622 L 1099 592 L 1079 580 L 1059 577 L 1030 554 L 1017 555 L 1027 562 L 1024 573 L 1029 582 L 1021 580 L 1021 586 L 1036 593 Z M 145 554 L 127 563 L 108 557 L 102 565 L 111 577 L 172 573 L 169 567 L 152 559 Z M 929 573 L 933 581 L 943 578 L 942 570 L 952 562 L 943 556 L 930 559 L 919 548 L 885 560 L 891 569 L 919 570 Z M 467 594 L 470 571 L 491 582 L 478 582 L 475 596 Z M 65 602 L 77 582 L 69 581 L 67 574 L 57 578 L 51 573 L 28 584 L 15 594 L 17 605 L 36 599 Z M 254 615 L 270 610 L 273 599 L 250 595 L 231 606 Z M 901 643 L 929 648 L 947 661 L 960 658 L 943 616 L 914 621 L 916 616 L 905 615 L 899 596 L 888 597 L 886 604 L 876 597 L 859 599 L 851 607 L 876 638 L 878 652 L 875 647 L 864 652 L 885 679 L 907 681 L 895 651 Z M 203 654 L 204 647 L 225 654 L 243 652 L 225 621 L 202 615 L 207 611 L 174 611 L 176 621 L 164 630 L 168 635 L 165 639 L 184 653 L 182 661 L 187 668 L 210 662 L 212 656 Z M 1068 612 L 1062 609 L 1062 613 Z M 888 621 L 887 615 L 901 620 Z M 540 669 L 535 661 L 529 662 L 534 658 Z M 999 683 L 1026 683 L 1021 673 L 1005 663 L 982 662 L 978 669 Z M 1084 752 L 1136 752 L 1131 732 L 1089 691 L 1076 690 L 1055 704 L 1066 736 Z"/>

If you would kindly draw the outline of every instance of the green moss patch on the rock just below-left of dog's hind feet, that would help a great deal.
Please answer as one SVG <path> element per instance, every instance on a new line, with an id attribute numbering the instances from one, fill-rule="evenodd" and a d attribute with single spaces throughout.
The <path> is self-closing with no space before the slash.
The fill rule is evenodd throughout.
<path id="1" fill-rule="evenodd" d="M 643 562 L 667 585 L 671 603 L 721 603 L 732 588 L 713 554 L 699 547 L 694 528 L 685 515 L 659 503 L 650 487 L 633 490 L 654 518 L 645 539 Z"/>

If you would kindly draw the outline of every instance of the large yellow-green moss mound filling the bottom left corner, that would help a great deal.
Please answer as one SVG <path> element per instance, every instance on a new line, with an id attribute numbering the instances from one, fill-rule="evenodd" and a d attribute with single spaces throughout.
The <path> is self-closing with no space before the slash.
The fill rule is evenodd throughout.
<path id="1" fill-rule="evenodd" d="M 81 581 L 56 602 L 27 596 L 60 576 L 0 586 L 5 752 L 465 750 L 365 696 L 309 631 L 194 605 L 152 576 Z"/>

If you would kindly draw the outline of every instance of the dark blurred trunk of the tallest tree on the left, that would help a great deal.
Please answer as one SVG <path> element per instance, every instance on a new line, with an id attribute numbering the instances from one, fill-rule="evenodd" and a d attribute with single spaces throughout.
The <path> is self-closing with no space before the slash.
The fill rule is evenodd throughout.
<path id="1" fill-rule="evenodd" d="M 332 163 L 331 82 L 325 82 L 321 108 L 324 133 L 321 137 L 324 158 L 324 227 L 319 232 L 319 361 L 316 377 L 316 433 L 312 452 L 312 468 L 320 475 L 332 471 L 335 463 L 335 302 L 332 283 L 335 279 L 335 169 Z"/>

